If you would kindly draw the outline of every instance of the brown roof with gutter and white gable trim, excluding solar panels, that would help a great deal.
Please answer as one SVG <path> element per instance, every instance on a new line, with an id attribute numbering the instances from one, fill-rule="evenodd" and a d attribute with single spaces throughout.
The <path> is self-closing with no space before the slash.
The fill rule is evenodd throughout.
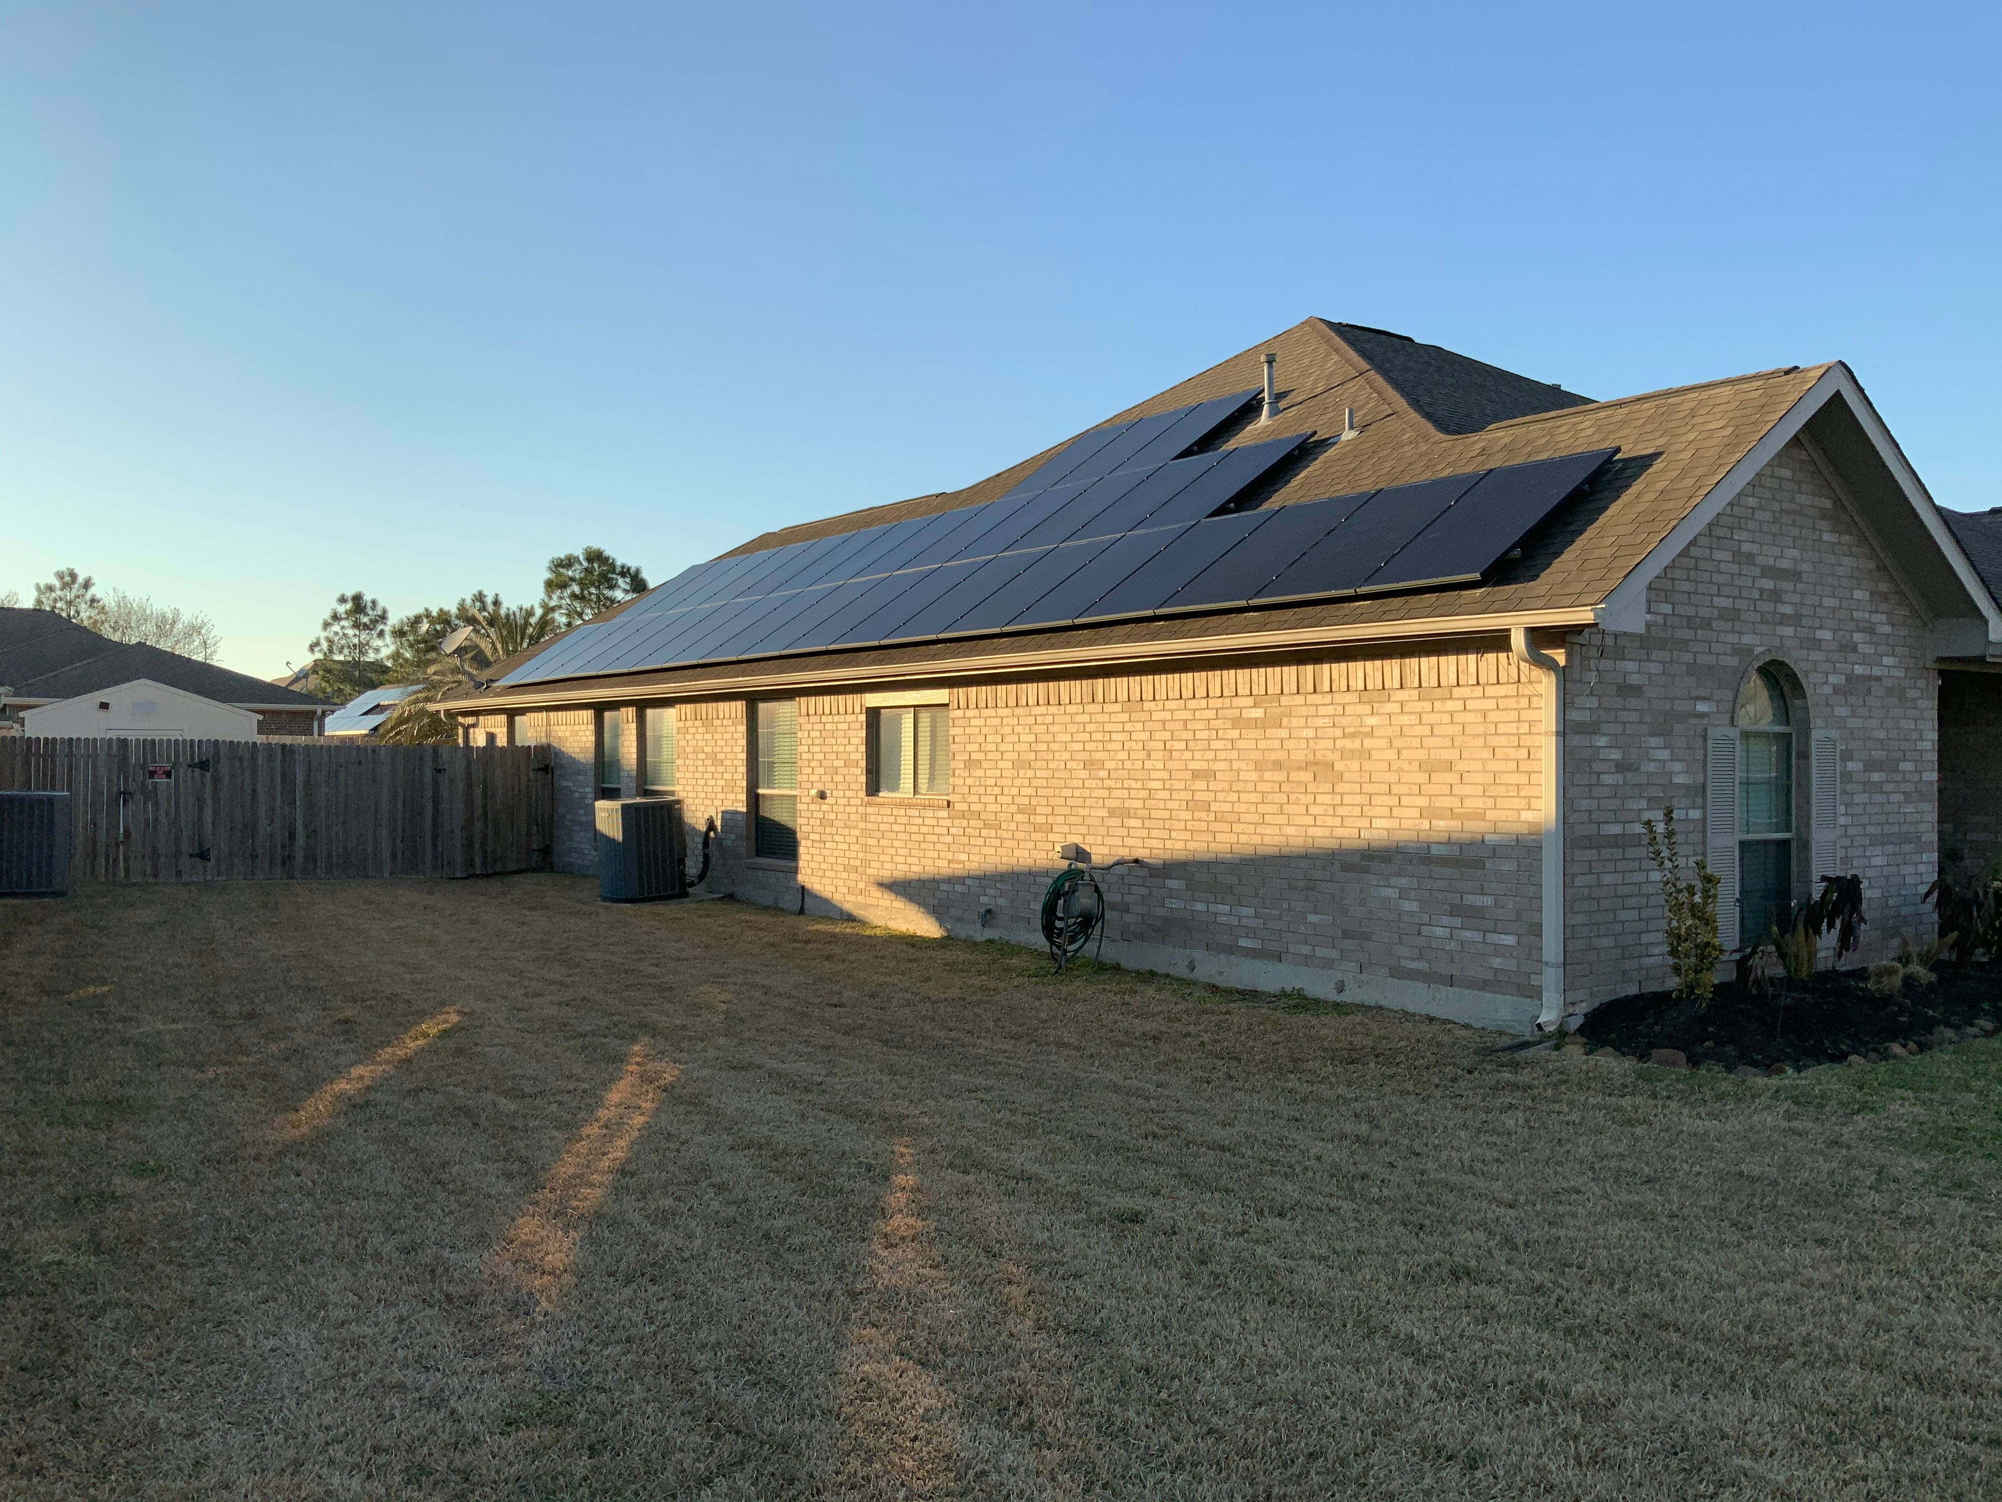
<path id="1" fill-rule="evenodd" d="M 1267 350 L 1277 356 L 1281 411 L 1271 423 L 1257 423 L 1253 403 L 1237 419 L 1237 427 L 1221 435 L 1221 443 L 1257 443 L 1305 431 L 1315 437 L 1279 471 L 1275 483 L 1245 497 L 1245 507 L 1353 495 L 1592 449 L 1620 453 L 1540 533 L 1526 539 L 1520 559 L 1499 565 L 1477 585 L 829 649 L 757 663 L 661 667 L 621 673 L 617 685 L 711 685 L 721 691 L 721 685 L 759 675 L 775 681 L 835 681 L 925 665 L 971 671 L 975 661 L 983 671 L 989 665 L 1005 669 L 1011 661 L 1043 667 L 1093 655 L 1169 655 L 1181 645 L 1205 651 L 1223 637 L 1255 637 L 1277 645 L 1315 633 L 1323 639 L 1329 633 L 1445 635 L 1453 629 L 1493 629 L 1495 619 L 1640 629 L 1648 579 L 1794 437 L 1814 441 L 1830 455 L 1832 465 L 1850 471 L 1850 491 L 1856 505 L 1872 509 L 1880 541 L 1910 555 L 1912 569 L 1906 577 L 1908 583 L 1916 581 L 1920 605 L 1938 621 L 1958 623 L 1960 651 L 1980 653 L 1984 643 L 2002 643 L 2002 613 L 1986 597 L 1974 599 L 1980 581 L 1958 559 L 1952 537 L 1932 515 L 1916 475 L 1848 366 L 1788 366 L 1618 401 L 1590 401 L 1397 334 L 1307 318 L 1277 338 L 1107 417 L 1105 423 L 1175 411 L 1253 387 L 1261 379 L 1259 362 Z M 1353 409 L 1359 437 L 1335 443 L 1333 435 L 1341 433 L 1347 409 Z M 1471 427 L 1481 419 L 1489 421 Z M 765 533 L 723 557 L 981 505 L 1009 493 L 1061 447 L 1053 445 L 961 491 Z M 561 639 L 498 663 L 494 677 L 533 663 Z M 557 699 L 561 693 L 553 683 L 511 685 L 484 697 Z M 589 695 L 601 687 L 587 677 L 565 685 L 573 695 Z M 611 691 L 611 683 L 605 691 Z M 452 695 L 470 697 L 474 695 Z"/>

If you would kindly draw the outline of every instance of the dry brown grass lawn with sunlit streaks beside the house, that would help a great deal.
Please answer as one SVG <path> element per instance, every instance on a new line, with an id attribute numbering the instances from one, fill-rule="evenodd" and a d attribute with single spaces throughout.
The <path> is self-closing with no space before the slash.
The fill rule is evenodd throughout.
<path id="1" fill-rule="evenodd" d="M 2002 1496 L 2002 1043 L 1491 1057 L 565 877 L 0 941 L 8 1498 Z"/>

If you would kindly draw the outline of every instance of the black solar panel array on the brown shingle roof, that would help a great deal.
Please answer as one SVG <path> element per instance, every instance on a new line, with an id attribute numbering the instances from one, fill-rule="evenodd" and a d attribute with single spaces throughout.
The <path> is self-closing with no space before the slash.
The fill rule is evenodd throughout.
<path id="1" fill-rule="evenodd" d="M 1219 515 L 1309 437 L 1175 459 L 1251 395 L 1095 429 L 999 501 L 697 565 L 503 681 L 1465 583 L 1616 453 Z"/>

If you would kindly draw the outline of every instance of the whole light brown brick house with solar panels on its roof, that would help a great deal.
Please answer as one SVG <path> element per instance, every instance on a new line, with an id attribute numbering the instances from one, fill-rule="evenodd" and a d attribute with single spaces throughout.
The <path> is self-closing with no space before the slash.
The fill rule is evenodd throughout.
<path id="1" fill-rule="evenodd" d="M 1251 479 L 1159 533 L 1167 511 L 1111 541 L 1083 527 L 963 549 L 971 563 L 895 555 L 961 525 L 943 513 L 1045 515 L 1035 497 L 1117 449 L 1109 433 L 1193 433 L 1147 465 Z M 1153 483 L 1121 463 L 1133 495 Z M 1487 495 L 1465 489 L 1475 475 L 1522 493 L 1560 475 L 1562 495 L 1477 567 L 1395 573 L 1479 531 L 1471 501 L 1437 501 Z M 1443 511 L 1377 569 L 1369 519 L 1425 497 Z M 1197 589 L 1211 573 L 1179 593 L 1179 573 L 1167 593 L 1133 583 L 1165 577 L 1161 539 L 1181 531 L 1213 539 L 1175 547 L 1207 547 L 1221 573 L 1235 539 L 1265 539 L 1235 555 L 1253 563 L 1293 557 L 1273 551 L 1285 527 L 1321 541 L 1257 575 L 1275 583 L 1219 587 L 1221 605 Z M 1105 579 L 1081 573 L 1077 599 L 1047 605 L 1059 585 L 1015 615 L 953 615 L 949 595 L 875 637 L 737 629 L 813 619 L 813 591 L 829 619 L 847 597 L 851 615 L 915 609 L 955 567 L 1013 581 L 993 595 L 1013 609 L 1031 567 L 1071 567 L 1063 547 L 1147 563 L 1105 575 L 1125 583 L 1089 607 Z M 841 549 L 835 583 L 787 575 Z M 1862 873 L 1872 945 L 1922 931 L 1942 673 L 2002 661 L 2002 613 L 1846 366 L 1588 401 L 1319 318 L 963 491 L 767 533 L 701 569 L 458 705 L 474 737 L 559 749 L 561 869 L 593 869 L 601 789 L 671 789 L 693 829 L 721 825 L 717 891 L 1031 939 L 1053 849 L 1077 841 L 1147 861 L 1107 877 L 1107 957 L 1516 1029 L 1664 983 L 1640 829 L 1664 805 L 1732 877 L 1728 937 L 1832 869 Z"/>

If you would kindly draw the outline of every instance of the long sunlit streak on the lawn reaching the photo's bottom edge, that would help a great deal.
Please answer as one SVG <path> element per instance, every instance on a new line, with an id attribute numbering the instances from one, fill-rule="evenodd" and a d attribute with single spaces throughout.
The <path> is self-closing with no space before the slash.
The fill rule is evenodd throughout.
<path id="1" fill-rule="evenodd" d="M 945 1268 L 925 1220 L 925 1186 L 909 1138 L 895 1144 L 883 1220 L 869 1246 L 841 1380 L 841 1482 L 863 1496 L 959 1494 L 953 1396 L 911 1352 L 951 1318 Z"/>

